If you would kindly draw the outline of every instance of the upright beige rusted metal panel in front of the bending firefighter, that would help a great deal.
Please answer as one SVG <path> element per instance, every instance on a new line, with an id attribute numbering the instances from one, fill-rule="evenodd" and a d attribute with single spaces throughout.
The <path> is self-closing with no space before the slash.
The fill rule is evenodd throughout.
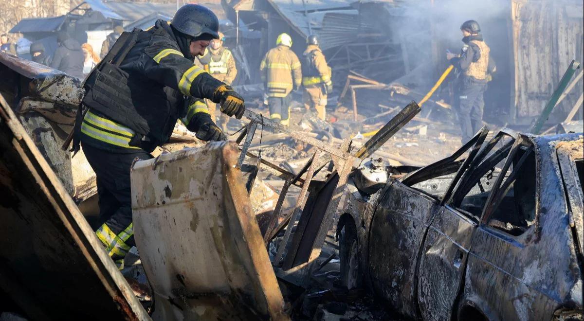
<path id="1" fill-rule="evenodd" d="M 238 154 L 234 142 L 216 142 L 133 166 L 134 235 L 154 319 L 288 319 Z"/>

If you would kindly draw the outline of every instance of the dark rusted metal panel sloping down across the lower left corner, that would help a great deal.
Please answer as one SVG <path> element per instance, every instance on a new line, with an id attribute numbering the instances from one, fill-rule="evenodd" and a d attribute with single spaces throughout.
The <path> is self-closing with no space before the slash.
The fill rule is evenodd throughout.
<path id="1" fill-rule="evenodd" d="M 29 319 L 148 320 L 0 96 L 0 287 Z"/>

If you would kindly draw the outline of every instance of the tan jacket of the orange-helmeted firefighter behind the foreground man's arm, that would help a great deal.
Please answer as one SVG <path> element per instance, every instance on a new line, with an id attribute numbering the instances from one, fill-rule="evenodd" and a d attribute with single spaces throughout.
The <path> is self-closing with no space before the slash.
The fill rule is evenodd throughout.
<path id="1" fill-rule="evenodd" d="M 206 72 L 214 76 L 215 79 L 227 83 L 227 85 L 231 85 L 235 80 L 235 76 L 237 76 L 233 54 L 231 54 L 231 50 L 225 47 L 217 50 L 207 47 L 203 57 L 198 57 L 197 59 Z"/>

